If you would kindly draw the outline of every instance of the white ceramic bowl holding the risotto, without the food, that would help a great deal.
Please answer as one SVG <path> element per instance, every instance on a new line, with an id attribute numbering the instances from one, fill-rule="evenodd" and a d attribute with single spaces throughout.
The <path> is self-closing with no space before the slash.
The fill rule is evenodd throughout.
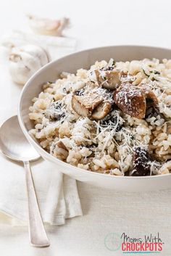
<path id="1" fill-rule="evenodd" d="M 38 70 L 35 75 L 25 84 L 20 96 L 20 104 L 18 117 L 22 131 L 25 133 L 28 141 L 41 156 L 51 162 L 51 168 L 54 171 L 61 171 L 69 176 L 84 181 L 96 186 L 101 186 L 107 189 L 122 190 L 122 191 L 149 191 L 158 189 L 171 188 L 171 174 L 163 176 L 146 176 L 146 177 L 120 177 L 109 176 L 101 173 L 93 173 L 88 170 L 83 170 L 69 165 L 47 153 L 41 146 L 34 141 L 28 131 L 33 128 L 33 123 L 28 118 L 31 99 L 38 96 L 41 92 L 41 86 L 47 81 L 56 80 L 62 71 L 75 73 L 81 67 L 88 69 L 96 60 L 109 60 L 113 58 L 116 61 L 127 61 L 143 58 L 171 59 L 171 50 L 155 48 L 149 46 L 107 46 L 96 49 L 88 49 L 75 54 L 70 54 L 67 57 L 57 59 Z M 40 170 L 41 171 L 41 170 Z"/>

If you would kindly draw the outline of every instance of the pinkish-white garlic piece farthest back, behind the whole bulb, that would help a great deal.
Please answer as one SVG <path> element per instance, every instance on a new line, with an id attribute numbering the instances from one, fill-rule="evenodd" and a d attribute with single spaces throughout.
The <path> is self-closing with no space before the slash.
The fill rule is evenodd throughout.
<path id="1" fill-rule="evenodd" d="M 51 20 L 28 15 L 30 28 L 35 33 L 47 36 L 62 36 L 62 30 L 68 25 L 69 19 Z"/>

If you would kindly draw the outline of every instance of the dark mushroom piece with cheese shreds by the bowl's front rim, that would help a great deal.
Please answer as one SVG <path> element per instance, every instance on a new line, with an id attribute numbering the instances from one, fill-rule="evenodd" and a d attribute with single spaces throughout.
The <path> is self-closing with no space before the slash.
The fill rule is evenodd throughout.
<path id="1" fill-rule="evenodd" d="M 150 156 L 146 149 L 141 146 L 135 146 L 133 156 L 133 173 L 132 176 L 150 175 Z"/>

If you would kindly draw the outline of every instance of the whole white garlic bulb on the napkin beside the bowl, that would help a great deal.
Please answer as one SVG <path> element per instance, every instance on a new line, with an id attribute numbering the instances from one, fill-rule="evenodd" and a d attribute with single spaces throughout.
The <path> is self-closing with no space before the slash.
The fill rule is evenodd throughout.
<path id="1" fill-rule="evenodd" d="M 15 83 L 25 84 L 39 68 L 49 62 L 40 46 L 27 44 L 14 47 L 9 54 L 9 73 Z"/>

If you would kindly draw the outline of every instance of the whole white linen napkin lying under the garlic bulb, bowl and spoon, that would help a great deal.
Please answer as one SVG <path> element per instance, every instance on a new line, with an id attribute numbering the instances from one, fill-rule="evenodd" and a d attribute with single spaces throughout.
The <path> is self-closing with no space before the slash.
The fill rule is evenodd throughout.
<path id="1" fill-rule="evenodd" d="M 9 41 L 10 38 L 10 41 Z M 3 39 L 3 44 L 24 44 L 25 40 L 40 44 L 49 51 L 51 59 L 69 54 L 75 49 L 75 40 L 49 36 L 36 36 L 14 32 Z M 0 47 L 0 125 L 17 114 L 22 86 L 12 83 L 8 72 L 7 51 Z M 38 160 L 31 163 L 33 180 L 43 222 L 64 224 L 66 218 L 82 215 L 76 181 L 51 167 L 51 163 Z M 0 154 L 0 223 L 27 225 L 28 199 L 25 170 L 22 164 L 8 160 Z"/>

